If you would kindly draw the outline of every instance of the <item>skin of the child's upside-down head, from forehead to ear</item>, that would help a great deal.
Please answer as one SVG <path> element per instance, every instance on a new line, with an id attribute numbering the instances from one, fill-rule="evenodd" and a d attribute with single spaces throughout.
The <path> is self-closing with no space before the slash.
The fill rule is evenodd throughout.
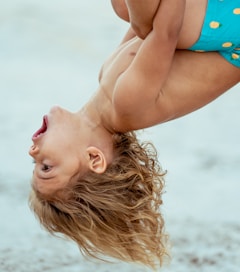
<path id="1" fill-rule="evenodd" d="M 91 118 L 94 118 L 93 115 Z M 65 187 L 76 174 L 83 175 L 88 169 L 100 173 L 102 168 L 107 167 L 113 153 L 111 137 L 91 118 L 85 113 L 85 108 L 78 113 L 57 106 L 50 110 L 47 130 L 37 137 L 33 136 L 33 145 L 29 150 L 35 162 L 35 189 L 51 194 Z M 102 138 L 105 140 L 99 141 Z"/>

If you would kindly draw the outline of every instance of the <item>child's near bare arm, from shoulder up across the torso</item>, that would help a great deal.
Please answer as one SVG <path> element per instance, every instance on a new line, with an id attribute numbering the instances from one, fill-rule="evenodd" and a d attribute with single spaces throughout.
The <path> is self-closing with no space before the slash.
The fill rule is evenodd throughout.
<path id="1" fill-rule="evenodd" d="M 140 46 L 131 65 L 119 76 L 113 103 L 116 118 L 125 125 L 130 125 L 134 117 L 141 114 L 139 106 L 142 112 L 156 106 L 171 68 L 184 9 L 184 0 L 161 1 L 153 30 Z"/>

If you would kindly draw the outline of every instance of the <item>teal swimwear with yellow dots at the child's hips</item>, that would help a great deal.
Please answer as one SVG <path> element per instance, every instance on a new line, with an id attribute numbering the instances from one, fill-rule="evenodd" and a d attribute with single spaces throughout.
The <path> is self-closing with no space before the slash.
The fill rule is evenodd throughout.
<path id="1" fill-rule="evenodd" d="M 208 0 L 201 35 L 189 50 L 218 51 L 240 68 L 240 0 Z"/>

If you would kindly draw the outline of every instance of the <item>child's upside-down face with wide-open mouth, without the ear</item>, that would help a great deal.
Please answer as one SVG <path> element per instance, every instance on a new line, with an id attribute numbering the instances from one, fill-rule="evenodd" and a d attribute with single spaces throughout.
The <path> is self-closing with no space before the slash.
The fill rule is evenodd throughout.
<path id="1" fill-rule="evenodd" d="M 29 154 L 33 157 L 33 186 L 50 194 L 68 184 L 71 177 L 83 172 L 82 133 L 76 114 L 54 107 L 33 135 Z M 80 169 L 81 165 L 81 169 Z"/>

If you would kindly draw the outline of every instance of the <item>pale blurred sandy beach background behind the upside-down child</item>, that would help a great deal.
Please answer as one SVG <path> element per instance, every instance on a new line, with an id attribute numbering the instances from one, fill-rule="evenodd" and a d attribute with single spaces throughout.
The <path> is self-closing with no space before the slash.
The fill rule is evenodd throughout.
<path id="1" fill-rule="evenodd" d="M 53 105 L 94 93 L 127 24 L 110 1 L 11 0 L 0 9 L 0 272 L 147 272 L 85 260 L 46 233 L 28 207 L 31 135 Z M 204 79 L 203 79 L 204 80 Z M 192 114 L 141 132 L 167 169 L 162 211 L 172 243 L 163 272 L 238 272 L 240 85 Z"/>

